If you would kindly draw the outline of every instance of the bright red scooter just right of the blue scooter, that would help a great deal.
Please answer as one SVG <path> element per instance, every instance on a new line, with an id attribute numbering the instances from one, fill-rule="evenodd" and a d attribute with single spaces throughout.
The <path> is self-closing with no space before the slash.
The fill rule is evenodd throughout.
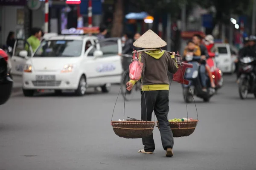
<path id="1" fill-rule="evenodd" d="M 215 91 L 220 89 L 223 85 L 223 77 L 222 71 L 217 67 L 215 57 L 218 56 L 218 53 L 208 52 L 209 58 L 206 60 L 207 65 L 210 67 L 210 71 L 212 72 L 212 78 L 214 79 L 215 83 Z"/>

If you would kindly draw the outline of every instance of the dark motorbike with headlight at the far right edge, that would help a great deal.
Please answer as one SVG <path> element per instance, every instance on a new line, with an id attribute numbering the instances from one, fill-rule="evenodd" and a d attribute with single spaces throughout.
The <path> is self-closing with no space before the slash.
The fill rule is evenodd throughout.
<path id="1" fill-rule="evenodd" d="M 254 94 L 256 98 L 256 75 L 254 74 L 256 59 L 245 56 L 239 59 L 239 62 L 239 72 L 241 73 L 238 79 L 240 99 L 246 99 L 248 94 Z"/>

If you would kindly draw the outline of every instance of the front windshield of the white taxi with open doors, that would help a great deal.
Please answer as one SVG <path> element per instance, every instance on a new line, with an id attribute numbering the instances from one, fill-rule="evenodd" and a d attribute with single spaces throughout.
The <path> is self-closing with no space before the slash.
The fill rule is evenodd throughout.
<path id="1" fill-rule="evenodd" d="M 79 57 L 82 51 L 81 40 L 43 41 L 34 57 Z"/>

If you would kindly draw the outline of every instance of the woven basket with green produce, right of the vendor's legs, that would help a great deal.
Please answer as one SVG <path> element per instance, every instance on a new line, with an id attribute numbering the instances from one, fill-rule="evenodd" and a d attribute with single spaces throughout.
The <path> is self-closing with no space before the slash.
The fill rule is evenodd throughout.
<path id="1" fill-rule="evenodd" d="M 195 131 L 195 127 L 198 123 L 198 120 L 192 120 L 189 122 L 169 122 L 169 125 L 172 130 L 173 137 L 183 137 L 189 136 Z M 157 122 L 159 129 L 159 123 Z"/>

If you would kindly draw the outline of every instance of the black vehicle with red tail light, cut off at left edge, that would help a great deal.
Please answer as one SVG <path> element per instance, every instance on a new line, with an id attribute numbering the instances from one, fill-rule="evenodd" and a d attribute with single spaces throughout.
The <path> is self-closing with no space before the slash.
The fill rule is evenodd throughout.
<path id="1" fill-rule="evenodd" d="M 12 93 L 13 81 L 8 74 L 8 55 L 0 49 L 0 105 L 6 103 Z"/>

